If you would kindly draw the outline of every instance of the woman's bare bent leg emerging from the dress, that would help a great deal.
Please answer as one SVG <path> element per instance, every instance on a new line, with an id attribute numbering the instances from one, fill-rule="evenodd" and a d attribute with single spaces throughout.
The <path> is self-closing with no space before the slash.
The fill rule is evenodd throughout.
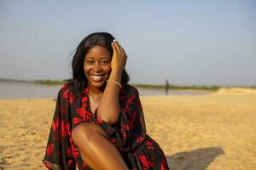
<path id="1" fill-rule="evenodd" d="M 73 129 L 72 138 L 83 161 L 92 169 L 128 170 L 119 151 L 99 125 L 83 123 Z"/>

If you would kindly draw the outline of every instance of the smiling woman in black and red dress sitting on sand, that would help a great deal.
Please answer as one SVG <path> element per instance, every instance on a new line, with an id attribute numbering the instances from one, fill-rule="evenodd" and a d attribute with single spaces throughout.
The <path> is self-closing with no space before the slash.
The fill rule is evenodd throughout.
<path id="1" fill-rule="evenodd" d="M 49 169 L 168 169 L 146 133 L 137 88 L 127 84 L 126 54 L 105 32 L 85 37 L 73 79 L 59 91 L 44 164 Z"/>

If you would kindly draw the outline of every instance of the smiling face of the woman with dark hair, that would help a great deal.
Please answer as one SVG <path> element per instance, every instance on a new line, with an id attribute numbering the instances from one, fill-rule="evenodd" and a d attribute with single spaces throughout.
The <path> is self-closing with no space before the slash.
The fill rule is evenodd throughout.
<path id="1" fill-rule="evenodd" d="M 90 48 L 84 58 L 84 74 L 89 87 L 101 88 L 111 72 L 111 56 L 107 48 L 95 46 Z"/>

